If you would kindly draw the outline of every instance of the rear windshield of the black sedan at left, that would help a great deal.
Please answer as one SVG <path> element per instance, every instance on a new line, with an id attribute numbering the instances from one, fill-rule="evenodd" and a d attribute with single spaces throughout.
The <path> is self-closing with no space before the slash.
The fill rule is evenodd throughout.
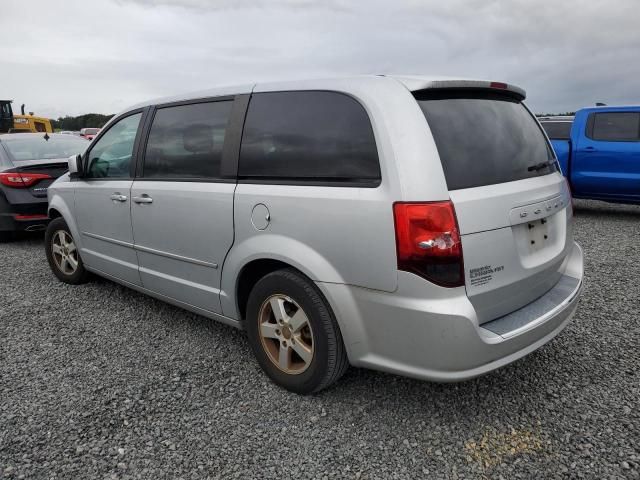
<path id="1" fill-rule="evenodd" d="M 25 135 L 2 137 L 2 144 L 9 151 L 13 160 L 47 160 L 67 158 L 83 153 L 89 142 L 81 137 Z"/>

